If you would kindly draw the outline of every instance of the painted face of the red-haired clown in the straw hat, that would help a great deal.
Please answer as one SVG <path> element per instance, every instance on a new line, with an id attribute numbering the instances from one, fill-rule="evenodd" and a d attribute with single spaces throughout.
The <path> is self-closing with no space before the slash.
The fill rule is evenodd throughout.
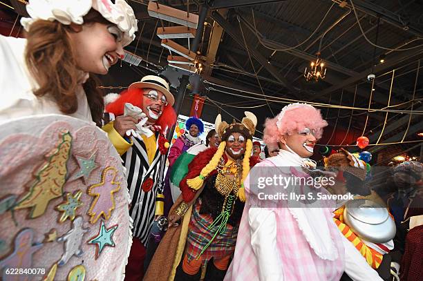
<path id="1" fill-rule="evenodd" d="M 144 89 L 142 111 L 147 114 L 150 124 L 157 122 L 157 119 L 163 113 L 164 106 L 167 106 L 167 100 L 162 92 L 153 89 Z"/>

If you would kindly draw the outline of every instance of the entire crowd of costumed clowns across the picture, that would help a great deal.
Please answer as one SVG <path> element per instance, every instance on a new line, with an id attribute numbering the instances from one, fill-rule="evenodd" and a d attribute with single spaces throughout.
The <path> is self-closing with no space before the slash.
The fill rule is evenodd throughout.
<path id="1" fill-rule="evenodd" d="M 1 280 L 422 280 L 420 162 L 372 182 L 339 148 L 318 167 L 328 123 L 308 104 L 209 132 L 190 117 L 170 145 L 167 79 L 97 88 L 138 30 L 126 1 L 26 8 L 26 39 L 0 35 Z M 319 192 L 353 199 L 261 200 L 254 180 L 276 174 L 333 176 Z"/>

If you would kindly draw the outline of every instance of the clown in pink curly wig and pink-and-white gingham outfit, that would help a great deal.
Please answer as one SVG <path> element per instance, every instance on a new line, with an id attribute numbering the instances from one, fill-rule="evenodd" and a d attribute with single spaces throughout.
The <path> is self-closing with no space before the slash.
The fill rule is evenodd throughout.
<path id="1" fill-rule="evenodd" d="M 312 196 L 326 195 L 325 188 L 285 181 L 316 176 L 308 157 L 327 125 L 308 104 L 289 104 L 266 120 L 264 142 L 280 151 L 252 168 L 244 182 L 247 202 L 225 280 L 335 281 L 344 272 L 353 280 L 381 280 L 337 229 L 328 200 L 304 193 L 309 188 Z"/>

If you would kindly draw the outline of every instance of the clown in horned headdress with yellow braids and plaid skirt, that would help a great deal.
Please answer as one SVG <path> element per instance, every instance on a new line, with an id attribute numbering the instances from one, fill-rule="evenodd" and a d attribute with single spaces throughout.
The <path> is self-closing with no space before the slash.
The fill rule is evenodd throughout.
<path id="1" fill-rule="evenodd" d="M 169 224 L 177 227 L 167 230 L 144 280 L 200 280 L 205 264 L 205 280 L 223 280 L 243 213 L 243 181 L 255 164 L 250 156 L 256 124 L 250 112 L 232 124 L 218 115 L 215 128 L 222 142 L 189 164 L 179 184 L 182 195 L 169 213 Z"/>

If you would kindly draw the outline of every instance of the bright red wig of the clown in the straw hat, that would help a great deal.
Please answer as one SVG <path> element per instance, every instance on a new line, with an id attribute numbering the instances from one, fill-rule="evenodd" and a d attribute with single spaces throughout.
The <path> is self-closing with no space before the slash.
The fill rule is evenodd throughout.
<path id="1" fill-rule="evenodd" d="M 142 108 L 142 94 L 144 89 L 132 88 L 131 90 L 124 90 L 120 93 L 120 97 L 106 106 L 108 113 L 113 113 L 116 116 L 124 113 L 124 104 L 129 102 L 134 106 Z M 169 104 L 164 106 L 163 113 L 158 118 L 156 125 L 162 127 L 164 132 L 167 128 L 171 128 L 176 123 L 176 113 Z"/>

